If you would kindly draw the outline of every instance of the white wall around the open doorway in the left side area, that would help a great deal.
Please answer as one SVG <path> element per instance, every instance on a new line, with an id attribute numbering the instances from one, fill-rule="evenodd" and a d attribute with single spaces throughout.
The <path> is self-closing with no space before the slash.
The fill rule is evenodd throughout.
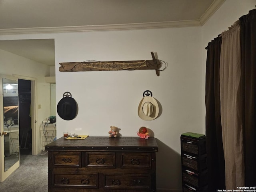
<path id="1" fill-rule="evenodd" d="M 46 117 L 50 116 L 50 84 L 45 83 L 44 76 L 49 76 L 50 69 L 33 60 L 0 50 L 0 74 L 24 76 L 24 78 L 36 79 L 36 108 L 40 104 L 41 108 L 36 110 L 36 130 Z M 20 77 L 19 77 L 20 78 Z M 38 150 L 40 150 L 39 131 L 36 132 L 38 138 Z"/>

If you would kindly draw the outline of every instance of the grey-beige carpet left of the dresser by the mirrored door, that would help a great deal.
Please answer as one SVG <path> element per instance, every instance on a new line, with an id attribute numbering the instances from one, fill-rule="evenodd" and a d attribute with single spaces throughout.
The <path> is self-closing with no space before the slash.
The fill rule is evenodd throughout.
<path id="1" fill-rule="evenodd" d="M 20 167 L 4 182 L 0 192 L 47 192 L 48 154 L 20 156 Z"/>

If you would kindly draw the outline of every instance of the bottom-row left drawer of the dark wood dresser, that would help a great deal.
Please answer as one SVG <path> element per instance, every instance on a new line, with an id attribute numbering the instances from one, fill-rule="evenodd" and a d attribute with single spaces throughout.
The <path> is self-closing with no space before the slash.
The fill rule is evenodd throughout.
<path id="1" fill-rule="evenodd" d="M 98 174 L 54 174 L 54 186 L 98 188 Z"/>

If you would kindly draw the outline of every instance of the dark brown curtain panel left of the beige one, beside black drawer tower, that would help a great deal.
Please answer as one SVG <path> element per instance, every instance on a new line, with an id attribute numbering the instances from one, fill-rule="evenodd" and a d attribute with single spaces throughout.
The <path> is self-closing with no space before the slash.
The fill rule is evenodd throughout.
<path id="1" fill-rule="evenodd" d="M 225 189 L 225 162 L 220 119 L 220 50 L 222 38 L 209 42 L 206 59 L 206 152 L 208 192 Z"/>

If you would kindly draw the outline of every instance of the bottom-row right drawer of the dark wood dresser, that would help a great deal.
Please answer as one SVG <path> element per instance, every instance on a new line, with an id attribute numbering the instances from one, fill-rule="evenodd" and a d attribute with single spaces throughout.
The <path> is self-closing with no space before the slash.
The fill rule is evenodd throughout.
<path id="1" fill-rule="evenodd" d="M 126 190 L 150 190 L 150 174 L 104 174 L 104 188 Z"/>

